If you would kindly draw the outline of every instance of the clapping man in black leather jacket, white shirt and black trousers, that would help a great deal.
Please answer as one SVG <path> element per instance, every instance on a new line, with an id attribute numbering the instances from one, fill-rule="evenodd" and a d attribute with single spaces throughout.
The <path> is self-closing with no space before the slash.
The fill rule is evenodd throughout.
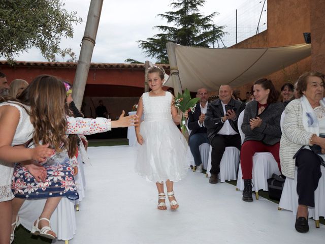
<path id="1" fill-rule="evenodd" d="M 218 182 L 220 161 L 226 146 L 235 146 L 240 150 L 241 138 L 238 132 L 237 118 L 245 109 L 245 103 L 232 98 L 230 85 L 221 85 L 219 99 L 211 102 L 205 116 L 204 124 L 208 129 L 208 138 L 212 146 L 211 177 L 209 182 Z"/>

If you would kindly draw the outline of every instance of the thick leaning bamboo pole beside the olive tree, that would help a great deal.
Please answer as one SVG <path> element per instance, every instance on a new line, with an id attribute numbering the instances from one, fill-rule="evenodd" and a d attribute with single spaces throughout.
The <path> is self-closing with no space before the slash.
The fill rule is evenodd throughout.
<path id="1" fill-rule="evenodd" d="M 96 35 L 101 18 L 103 1 L 104 0 L 91 0 L 89 6 L 85 33 L 82 38 L 78 66 L 73 82 L 73 99 L 78 109 L 81 108 L 82 99 L 85 92 L 92 51 L 95 45 Z"/>

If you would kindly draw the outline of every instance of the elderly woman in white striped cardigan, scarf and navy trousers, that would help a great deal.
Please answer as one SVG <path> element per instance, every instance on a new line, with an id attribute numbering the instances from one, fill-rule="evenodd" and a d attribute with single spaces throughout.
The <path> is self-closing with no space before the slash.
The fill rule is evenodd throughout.
<path id="1" fill-rule="evenodd" d="M 300 99 L 285 108 L 280 159 L 286 177 L 295 178 L 295 166 L 298 168 L 299 205 L 295 227 L 298 232 L 305 233 L 309 230 L 308 206 L 315 206 L 314 192 L 321 177 L 321 158 L 325 158 L 309 147 L 319 145 L 321 153 L 325 153 L 325 138 L 320 137 L 325 134 L 324 75 L 313 71 L 301 75 L 297 89 Z"/>

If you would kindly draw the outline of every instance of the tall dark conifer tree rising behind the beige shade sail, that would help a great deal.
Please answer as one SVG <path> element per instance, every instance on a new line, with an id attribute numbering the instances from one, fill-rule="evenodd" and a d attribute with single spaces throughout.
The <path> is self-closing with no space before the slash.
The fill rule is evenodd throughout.
<path id="1" fill-rule="evenodd" d="M 224 35 L 222 31 L 224 26 L 213 24 L 213 17 L 218 13 L 204 16 L 199 12 L 199 8 L 204 6 L 205 2 L 205 0 L 176 0 L 170 4 L 175 11 L 158 14 L 173 26 L 154 26 L 163 33 L 156 34 L 146 41 L 138 41 L 139 47 L 144 50 L 146 56 L 156 58 L 161 64 L 168 64 L 167 42 L 184 46 L 209 47 L 209 44 L 220 39 Z"/>

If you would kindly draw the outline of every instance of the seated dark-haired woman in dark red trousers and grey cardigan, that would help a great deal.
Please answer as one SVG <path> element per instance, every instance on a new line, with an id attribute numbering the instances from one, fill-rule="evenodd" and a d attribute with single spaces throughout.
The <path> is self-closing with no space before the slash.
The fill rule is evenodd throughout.
<path id="1" fill-rule="evenodd" d="M 240 164 L 244 179 L 243 201 L 246 202 L 253 201 L 251 179 L 255 153 L 270 152 L 280 169 L 280 118 L 284 110 L 283 104 L 277 102 L 279 93 L 271 80 L 263 78 L 255 81 L 253 94 L 255 100 L 246 105 L 241 127 L 245 134 Z"/>

